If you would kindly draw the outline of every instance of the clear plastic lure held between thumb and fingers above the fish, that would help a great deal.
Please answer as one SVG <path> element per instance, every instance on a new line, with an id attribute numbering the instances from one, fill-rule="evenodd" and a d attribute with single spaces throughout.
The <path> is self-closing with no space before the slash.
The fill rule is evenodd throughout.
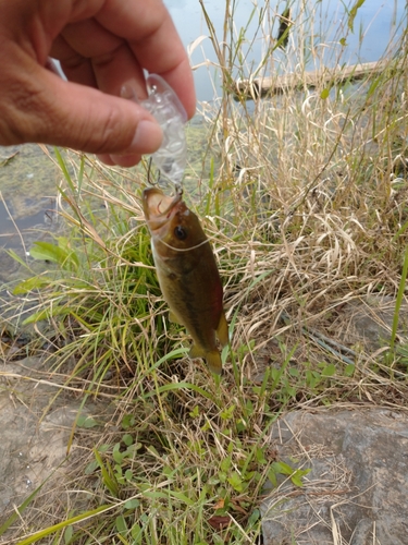
<path id="1" fill-rule="evenodd" d="M 150 74 L 146 83 L 149 97 L 139 104 L 154 117 L 163 131 L 163 142 L 151 158 L 161 174 L 173 182 L 180 192 L 187 165 L 184 131 L 187 114 L 177 95 L 160 75 Z M 121 94 L 124 98 L 136 99 L 127 85 Z"/>

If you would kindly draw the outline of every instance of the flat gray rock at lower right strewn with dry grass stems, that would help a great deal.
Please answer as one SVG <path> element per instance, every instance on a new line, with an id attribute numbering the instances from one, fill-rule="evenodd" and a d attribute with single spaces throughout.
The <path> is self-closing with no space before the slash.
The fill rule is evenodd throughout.
<path id="1" fill-rule="evenodd" d="M 386 409 L 295 411 L 271 432 L 276 459 L 310 468 L 270 486 L 264 545 L 408 543 L 408 415 Z"/>

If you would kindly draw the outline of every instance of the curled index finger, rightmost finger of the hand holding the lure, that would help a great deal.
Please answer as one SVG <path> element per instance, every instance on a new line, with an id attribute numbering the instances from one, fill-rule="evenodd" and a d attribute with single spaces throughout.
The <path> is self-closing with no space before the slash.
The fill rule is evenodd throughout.
<path id="1" fill-rule="evenodd" d="M 96 15 L 128 43 L 140 66 L 161 75 L 178 95 L 188 118 L 196 109 L 193 72 L 174 23 L 161 0 L 108 0 Z"/>

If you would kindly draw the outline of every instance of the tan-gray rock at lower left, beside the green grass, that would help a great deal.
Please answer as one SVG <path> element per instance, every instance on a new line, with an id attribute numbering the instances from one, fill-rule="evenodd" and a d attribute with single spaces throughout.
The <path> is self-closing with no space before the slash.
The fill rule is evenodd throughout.
<path id="1" fill-rule="evenodd" d="M 53 488 L 59 502 L 63 501 L 65 475 L 81 451 L 75 438 L 66 460 L 78 411 L 84 416 L 101 413 L 101 407 L 94 403 L 81 408 L 81 399 L 55 396 L 59 385 L 53 386 L 53 380 L 39 358 L 0 362 L 0 525 L 13 506 L 21 505 L 46 480 L 41 492 Z M 100 405 L 104 411 L 106 403 Z M 11 542 L 0 536 L 0 543 Z"/>

